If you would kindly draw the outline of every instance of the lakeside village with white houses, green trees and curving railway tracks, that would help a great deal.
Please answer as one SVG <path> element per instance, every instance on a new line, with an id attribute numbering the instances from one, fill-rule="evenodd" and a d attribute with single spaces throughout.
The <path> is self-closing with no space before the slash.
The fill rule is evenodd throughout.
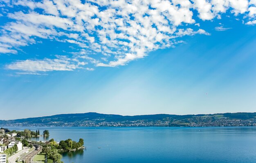
<path id="1" fill-rule="evenodd" d="M 79 142 L 72 139 L 56 142 L 54 139 L 49 141 L 30 141 L 31 137 L 49 137 L 49 131 L 44 130 L 43 135 L 40 131 L 9 130 L 0 128 L 0 163 L 63 163 L 59 151 L 72 151 L 85 149 L 83 139 Z"/>

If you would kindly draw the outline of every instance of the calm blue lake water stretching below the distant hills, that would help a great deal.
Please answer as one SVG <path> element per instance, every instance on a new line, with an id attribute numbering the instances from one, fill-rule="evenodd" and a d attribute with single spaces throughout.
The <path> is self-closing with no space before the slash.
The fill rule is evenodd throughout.
<path id="1" fill-rule="evenodd" d="M 8 128 L 83 138 L 87 149 L 62 153 L 64 163 L 256 163 L 256 127 Z"/>

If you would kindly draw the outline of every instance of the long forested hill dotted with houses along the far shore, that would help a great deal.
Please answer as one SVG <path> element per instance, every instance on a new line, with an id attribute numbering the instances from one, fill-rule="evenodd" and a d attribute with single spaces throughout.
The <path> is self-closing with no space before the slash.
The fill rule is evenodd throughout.
<path id="1" fill-rule="evenodd" d="M 0 126 L 256 126 L 256 113 L 135 116 L 79 113 L 0 120 Z"/>

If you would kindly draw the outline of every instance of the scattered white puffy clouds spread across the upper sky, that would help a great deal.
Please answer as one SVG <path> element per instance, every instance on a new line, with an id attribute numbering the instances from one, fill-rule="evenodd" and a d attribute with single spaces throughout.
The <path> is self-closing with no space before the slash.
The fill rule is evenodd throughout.
<path id="1" fill-rule="evenodd" d="M 10 21 L 2 24 L 0 53 L 17 54 L 19 47 L 35 44 L 37 38 L 79 48 L 70 60 L 27 59 L 6 66 L 25 72 L 94 70 L 84 67 L 88 62 L 126 65 L 153 50 L 174 46 L 185 35 L 210 35 L 194 16 L 207 21 L 231 12 L 244 14 L 247 25 L 256 24 L 255 0 L 6 0 L 1 5 L 13 12 L 2 13 Z M 18 7 L 24 9 L 17 11 Z"/>

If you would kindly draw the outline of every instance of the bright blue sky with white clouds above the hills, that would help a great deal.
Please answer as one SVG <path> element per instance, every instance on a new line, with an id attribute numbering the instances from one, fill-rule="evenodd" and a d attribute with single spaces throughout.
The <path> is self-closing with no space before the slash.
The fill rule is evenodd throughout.
<path id="1" fill-rule="evenodd" d="M 0 119 L 255 112 L 255 6 L 2 1 Z"/>

